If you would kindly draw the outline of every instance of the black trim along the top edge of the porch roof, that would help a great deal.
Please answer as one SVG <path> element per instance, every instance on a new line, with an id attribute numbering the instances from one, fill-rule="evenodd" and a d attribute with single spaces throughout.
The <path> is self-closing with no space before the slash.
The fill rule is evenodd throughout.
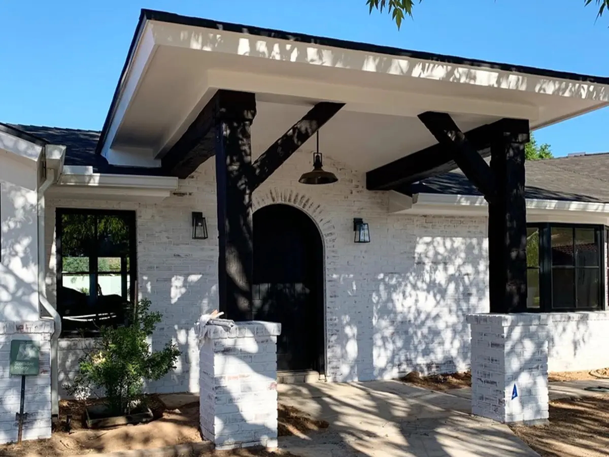
<path id="1" fill-rule="evenodd" d="M 501 71 L 508 71 L 510 73 L 524 73 L 535 76 L 546 76 L 560 79 L 574 80 L 578 82 L 588 82 L 596 84 L 607 84 L 609 85 L 609 77 L 604 76 L 591 76 L 581 73 L 572 73 L 569 71 L 556 71 L 551 69 L 536 68 L 533 66 L 526 65 L 511 65 L 509 63 L 490 62 L 487 60 L 479 60 L 476 58 L 464 58 L 456 55 L 447 54 L 435 54 L 434 52 L 425 51 L 412 51 L 410 49 L 394 48 L 392 46 L 381 46 L 379 44 L 362 43 L 359 41 L 348 41 L 340 40 L 338 38 L 327 38 L 327 37 L 316 37 L 314 35 L 298 34 L 292 32 L 286 32 L 284 30 L 276 29 L 264 29 L 262 27 L 246 26 L 243 24 L 227 23 L 221 21 L 214 21 L 212 19 L 197 18 L 194 16 L 182 16 L 176 13 L 168 13 L 158 10 L 142 9 L 139 15 L 138 26 L 135 29 L 131 46 L 127 53 L 127 59 L 125 65 L 122 68 L 121 77 L 119 78 L 114 96 L 110 104 L 110 110 L 104 122 L 102 133 L 97 144 L 96 154 L 101 152 L 101 146 L 104 144 L 105 136 L 107 135 L 108 125 L 110 119 L 114 114 L 114 104 L 118 99 L 118 94 L 122 86 L 122 80 L 127 71 L 128 63 L 131 60 L 133 49 L 137 38 L 141 34 L 141 26 L 144 21 L 160 21 L 172 24 L 184 24 L 186 26 L 203 27 L 206 29 L 217 29 L 226 30 L 228 32 L 236 32 L 239 34 L 256 35 L 261 37 L 276 38 L 278 40 L 297 41 L 299 43 L 311 43 L 319 46 L 330 46 L 332 48 L 343 48 L 351 49 L 353 51 L 364 51 L 364 52 L 376 52 L 378 54 L 395 55 L 398 57 L 410 57 L 418 58 L 421 60 L 430 60 L 432 62 L 449 63 L 452 65 L 467 65 L 475 66 L 479 68 L 489 68 Z"/>

